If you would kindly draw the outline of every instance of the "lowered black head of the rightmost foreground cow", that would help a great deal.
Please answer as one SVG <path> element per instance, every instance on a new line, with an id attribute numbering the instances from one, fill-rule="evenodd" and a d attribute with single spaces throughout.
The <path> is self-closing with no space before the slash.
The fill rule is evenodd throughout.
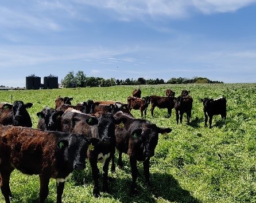
<path id="1" fill-rule="evenodd" d="M 154 150 L 158 143 L 158 134 L 170 133 L 170 128 L 159 128 L 156 124 L 145 123 L 141 128 L 133 130 L 131 135 L 136 142 L 140 145 L 143 151 L 143 160 L 145 161 L 154 156 Z"/>

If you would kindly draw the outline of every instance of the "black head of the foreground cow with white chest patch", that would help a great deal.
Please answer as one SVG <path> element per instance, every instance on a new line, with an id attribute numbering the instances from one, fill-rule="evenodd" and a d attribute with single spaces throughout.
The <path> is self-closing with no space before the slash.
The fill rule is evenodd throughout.
<path id="1" fill-rule="evenodd" d="M 115 144 L 115 124 L 125 123 L 127 118 L 114 118 L 112 113 L 103 113 L 98 120 L 98 125 L 91 126 L 91 137 L 107 145 Z M 88 118 L 87 124 L 95 124 L 97 121 Z"/>

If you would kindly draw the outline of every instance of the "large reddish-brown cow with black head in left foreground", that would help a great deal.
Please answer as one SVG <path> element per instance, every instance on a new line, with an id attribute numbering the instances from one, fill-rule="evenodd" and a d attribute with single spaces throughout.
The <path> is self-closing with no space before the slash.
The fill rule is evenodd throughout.
<path id="1" fill-rule="evenodd" d="M 10 203 L 10 174 L 17 169 L 39 175 L 40 203 L 48 196 L 50 178 L 55 178 L 57 203 L 61 203 L 65 181 L 73 170 L 86 168 L 90 143 L 83 134 L 0 125 L 0 186 L 5 202 Z"/>

